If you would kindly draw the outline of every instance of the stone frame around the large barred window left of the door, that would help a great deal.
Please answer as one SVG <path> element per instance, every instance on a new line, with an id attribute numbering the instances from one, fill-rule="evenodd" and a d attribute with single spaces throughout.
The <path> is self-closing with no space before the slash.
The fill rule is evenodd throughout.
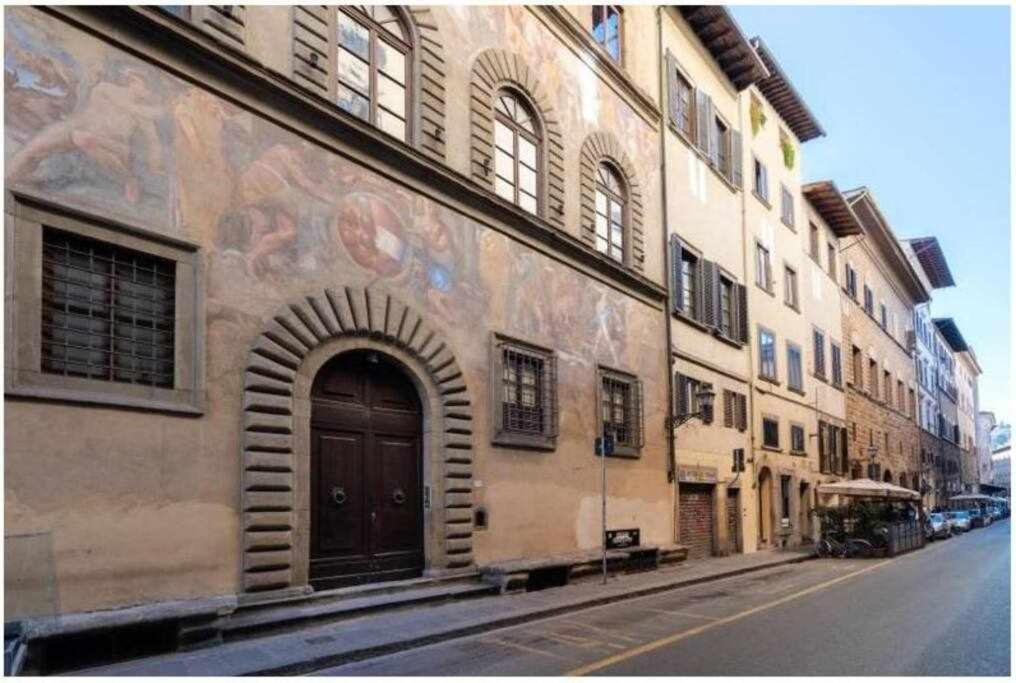
<path id="1" fill-rule="evenodd" d="M 203 415 L 204 266 L 198 245 L 27 195 L 6 196 L 6 394 Z M 173 388 L 42 371 L 43 228 L 47 226 L 176 263 Z"/>

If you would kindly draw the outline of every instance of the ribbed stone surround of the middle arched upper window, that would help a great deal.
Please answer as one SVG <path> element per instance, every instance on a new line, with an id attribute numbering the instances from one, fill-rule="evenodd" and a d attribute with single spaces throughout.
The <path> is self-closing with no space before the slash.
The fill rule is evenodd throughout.
<path id="1" fill-rule="evenodd" d="M 470 175 L 485 187 L 494 187 L 494 98 L 498 88 L 513 86 L 532 103 L 544 137 L 539 215 L 564 228 L 565 162 L 561 124 L 539 83 L 538 72 L 522 57 L 504 50 L 485 50 L 472 63 L 470 94 Z"/>

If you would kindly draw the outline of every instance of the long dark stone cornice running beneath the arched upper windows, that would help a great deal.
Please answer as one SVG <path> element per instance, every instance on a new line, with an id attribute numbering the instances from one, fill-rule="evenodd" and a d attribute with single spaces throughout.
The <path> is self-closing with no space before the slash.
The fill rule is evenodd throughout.
<path id="1" fill-rule="evenodd" d="M 200 85 L 328 151 L 449 206 L 544 254 L 660 307 L 666 289 L 619 267 L 577 237 L 511 204 L 423 151 L 344 115 L 245 54 L 224 50 L 197 26 L 151 6 L 48 6 L 53 14 L 175 76 Z M 410 181 L 407 183 L 407 181 Z M 520 239 L 521 238 L 521 239 Z"/>

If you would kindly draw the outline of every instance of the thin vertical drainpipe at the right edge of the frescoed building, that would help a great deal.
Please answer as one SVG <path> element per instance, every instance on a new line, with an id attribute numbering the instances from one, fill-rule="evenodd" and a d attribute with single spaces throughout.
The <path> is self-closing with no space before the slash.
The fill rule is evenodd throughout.
<path id="1" fill-rule="evenodd" d="M 662 210 L 660 211 L 660 216 L 663 223 L 662 230 L 660 234 L 662 235 L 660 243 L 663 250 L 663 280 L 666 283 L 666 302 L 663 305 L 663 329 L 665 330 L 666 338 L 666 349 L 664 350 L 664 357 L 666 363 L 664 368 L 666 368 L 666 421 L 664 430 L 666 431 L 666 482 L 669 484 L 674 484 L 677 479 L 677 452 L 676 446 L 674 444 L 674 372 L 673 372 L 673 329 L 671 325 L 671 297 L 673 293 L 671 292 L 671 262 L 670 262 L 670 252 L 668 249 L 668 226 L 671 225 L 666 213 L 666 121 L 669 117 L 669 102 L 666 99 L 666 73 L 665 65 L 666 60 L 663 55 L 663 7 L 661 5 L 656 6 L 656 63 L 659 65 L 657 69 L 657 74 L 659 76 L 659 101 L 662 104 L 661 113 L 662 117 L 659 121 L 659 186 L 660 186 L 660 203 L 662 205 Z M 673 533 L 672 536 L 677 542 L 678 540 L 678 501 L 675 495 L 674 499 L 674 518 L 672 519 Z"/>

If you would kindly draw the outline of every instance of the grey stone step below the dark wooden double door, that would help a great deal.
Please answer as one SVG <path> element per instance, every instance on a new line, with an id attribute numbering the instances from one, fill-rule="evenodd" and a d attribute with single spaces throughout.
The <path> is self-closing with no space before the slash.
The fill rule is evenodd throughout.
<path id="1" fill-rule="evenodd" d="M 261 604 L 238 609 L 217 624 L 223 639 L 238 640 L 284 630 L 295 625 L 341 621 L 374 612 L 419 607 L 428 603 L 467 600 L 497 593 L 489 583 L 473 579 L 415 580 L 338 588 L 312 594 L 306 599 Z"/>

